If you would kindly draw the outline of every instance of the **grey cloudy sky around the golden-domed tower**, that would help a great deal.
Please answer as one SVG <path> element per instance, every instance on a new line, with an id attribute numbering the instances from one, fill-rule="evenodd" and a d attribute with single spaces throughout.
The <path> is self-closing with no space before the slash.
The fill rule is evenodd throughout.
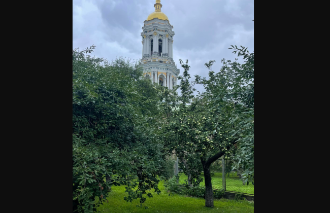
<path id="1" fill-rule="evenodd" d="M 95 45 L 93 55 L 115 59 L 142 57 L 143 22 L 154 12 L 155 0 L 73 0 L 73 48 Z M 208 76 L 204 66 L 216 60 L 235 59 L 230 45 L 254 51 L 253 0 L 161 0 L 161 11 L 174 26 L 173 59 L 188 59 L 191 80 Z M 196 86 L 204 91 L 201 86 Z"/>

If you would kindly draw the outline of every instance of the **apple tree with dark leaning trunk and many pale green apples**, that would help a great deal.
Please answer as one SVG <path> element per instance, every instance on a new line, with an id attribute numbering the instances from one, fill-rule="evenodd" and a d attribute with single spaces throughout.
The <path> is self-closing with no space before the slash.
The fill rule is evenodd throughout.
<path id="1" fill-rule="evenodd" d="M 216 111 L 209 103 L 208 96 L 193 96 L 193 85 L 189 82 L 189 65 L 182 63 L 184 72 L 180 77 L 182 101 L 180 109 L 173 112 L 166 128 L 166 149 L 175 152 L 180 159 L 187 162 L 198 159 L 204 171 L 206 187 L 205 205 L 213 206 L 213 189 L 211 183 L 211 164 L 220 157 L 228 158 L 237 143 L 233 137 L 233 128 L 229 123 L 226 110 Z M 195 162 L 195 161 L 194 161 Z M 191 176 L 199 176 L 199 170 L 189 168 Z"/>

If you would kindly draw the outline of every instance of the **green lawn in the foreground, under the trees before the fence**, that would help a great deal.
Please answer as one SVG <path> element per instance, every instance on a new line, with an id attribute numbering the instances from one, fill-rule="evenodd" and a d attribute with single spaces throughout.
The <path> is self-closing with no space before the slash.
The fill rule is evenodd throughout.
<path id="1" fill-rule="evenodd" d="M 105 202 L 97 208 L 97 212 L 111 212 L 111 213 L 195 213 L 195 212 L 212 212 L 212 213 L 252 213 L 253 203 L 248 201 L 235 201 L 228 199 L 215 199 L 214 207 L 205 207 L 205 200 L 202 198 L 186 197 L 182 195 L 169 196 L 166 188 L 163 186 L 163 181 L 159 183 L 161 194 L 157 195 L 152 192 L 153 198 L 148 198 L 144 206 L 148 209 L 136 207 L 140 204 L 138 200 L 133 203 L 124 201 L 125 186 L 112 187 L 112 192 L 109 193 L 107 199 L 109 203 Z M 96 198 L 97 199 L 97 198 Z"/>

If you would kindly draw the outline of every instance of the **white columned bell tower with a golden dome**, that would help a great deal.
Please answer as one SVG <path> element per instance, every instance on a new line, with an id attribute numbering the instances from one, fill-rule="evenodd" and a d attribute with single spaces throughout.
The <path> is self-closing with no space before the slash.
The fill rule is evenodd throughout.
<path id="1" fill-rule="evenodd" d="M 180 69 L 173 60 L 173 26 L 161 12 L 161 7 L 160 0 L 156 0 L 155 11 L 144 21 L 141 65 L 144 78 L 173 89 L 177 85 Z"/>

